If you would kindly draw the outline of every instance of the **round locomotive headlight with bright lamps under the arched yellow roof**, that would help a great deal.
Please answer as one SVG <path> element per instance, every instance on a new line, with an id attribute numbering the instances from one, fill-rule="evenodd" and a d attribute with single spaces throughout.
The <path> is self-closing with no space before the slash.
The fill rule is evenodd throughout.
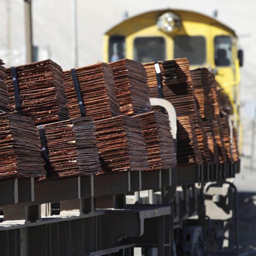
<path id="1" fill-rule="evenodd" d="M 180 27 L 180 17 L 172 12 L 165 12 L 158 17 L 156 25 L 159 29 L 166 33 L 172 32 L 175 28 Z"/>

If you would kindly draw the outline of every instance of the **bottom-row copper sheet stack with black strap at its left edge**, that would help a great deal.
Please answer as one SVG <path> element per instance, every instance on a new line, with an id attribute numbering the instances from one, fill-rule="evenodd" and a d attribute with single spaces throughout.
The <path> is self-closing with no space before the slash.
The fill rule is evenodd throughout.
<path id="1" fill-rule="evenodd" d="M 44 124 L 42 127 L 49 159 L 46 169 L 50 177 L 99 172 L 100 155 L 91 117 Z"/>

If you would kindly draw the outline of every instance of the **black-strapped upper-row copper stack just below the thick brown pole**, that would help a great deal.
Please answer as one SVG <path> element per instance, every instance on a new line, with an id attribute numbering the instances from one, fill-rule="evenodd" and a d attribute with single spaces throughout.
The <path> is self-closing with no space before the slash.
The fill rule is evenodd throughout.
<path id="1" fill-rule="evenodd" d="M 35 124 L 68 119 L 67 98 L 63 86 L 62 69 L 52 60 L 43 60 L 15 67 L 16 77 L 6 69 L 6 83 L 10 108 L 17 112 L 12 79 L 18 82 L 21 110 Z"/>

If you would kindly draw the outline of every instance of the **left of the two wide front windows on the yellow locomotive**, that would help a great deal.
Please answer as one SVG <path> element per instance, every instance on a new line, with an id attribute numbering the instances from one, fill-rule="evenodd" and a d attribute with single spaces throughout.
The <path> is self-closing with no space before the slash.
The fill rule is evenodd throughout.
<path id="1" fill-rule="evenodd" d="M 163 37 L 137 37 L 134 40 L 133 59 L 139 62 L 165 60 Z"/>

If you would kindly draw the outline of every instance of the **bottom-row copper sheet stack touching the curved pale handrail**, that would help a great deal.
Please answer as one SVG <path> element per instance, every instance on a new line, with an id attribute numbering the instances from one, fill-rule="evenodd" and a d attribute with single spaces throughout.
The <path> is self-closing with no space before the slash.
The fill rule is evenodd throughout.
<path id="1" fill-rule="evenodd" d="M 136 115 L 142 124 L 148 154 L 148 170 L 168 169 L 176 165 L 176 154 L 168 116 L 151 111 Z"/>

